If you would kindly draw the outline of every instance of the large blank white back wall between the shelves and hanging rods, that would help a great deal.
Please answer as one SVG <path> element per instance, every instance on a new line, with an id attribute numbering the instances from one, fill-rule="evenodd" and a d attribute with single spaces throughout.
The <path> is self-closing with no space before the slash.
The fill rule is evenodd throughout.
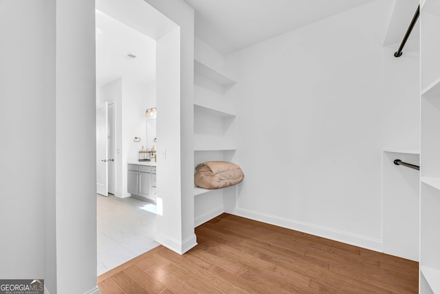
<path id="1" fill-rule="evenodd" d="M 387 14 L 374 1 L 228 56 L 240 71 L 239 215 L 381 249 Z"/>

